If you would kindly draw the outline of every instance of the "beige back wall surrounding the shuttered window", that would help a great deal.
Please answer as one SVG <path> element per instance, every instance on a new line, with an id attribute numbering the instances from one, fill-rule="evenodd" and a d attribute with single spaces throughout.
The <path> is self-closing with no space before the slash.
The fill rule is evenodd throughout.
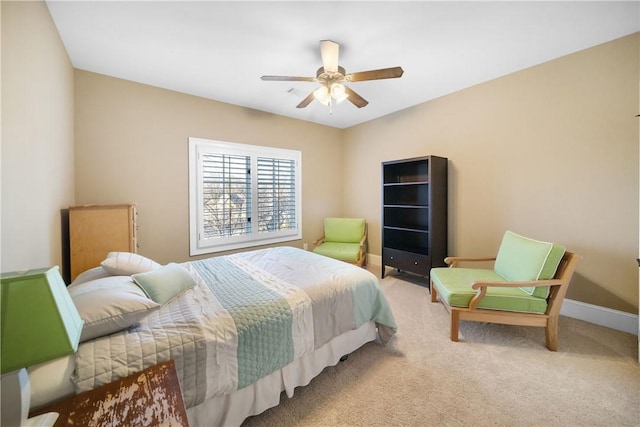
<path id="1" fill-rule="evenodd" d="M 188 138 L 302 151 L 302 247 L 342 211 L 341 131 L 76 70 L 76 201 L 134 202 L 139 252 L 189 259 Z"/>

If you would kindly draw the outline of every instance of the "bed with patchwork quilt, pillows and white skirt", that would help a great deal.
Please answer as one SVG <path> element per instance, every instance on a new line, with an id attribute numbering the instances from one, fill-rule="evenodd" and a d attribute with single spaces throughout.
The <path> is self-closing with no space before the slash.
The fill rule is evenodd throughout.
<path id="1" fill-rule="evenodd" d="M 29 369 L 32 407 L 173 359 L 190 424 L 237 426 L 397 330 L 372 273 L 292 247 L 165 266 L 111 253 L 69 293 L 81 344 Z M 127 301 L 110 302 L 118 293 Z M 110 311 L 129 299 L 147 306 Z"/>

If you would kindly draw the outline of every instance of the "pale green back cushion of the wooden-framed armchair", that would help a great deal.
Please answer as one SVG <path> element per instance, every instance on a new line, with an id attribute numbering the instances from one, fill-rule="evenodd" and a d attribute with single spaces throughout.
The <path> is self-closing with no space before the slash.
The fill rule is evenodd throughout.
<path id="1" fill-rule="evenodd" d="M 507 280 L 529 281 L 553 278 L 565 248 L 549 242 L 530 239 L 512 231 L 504 233 L 494 270 Z M 523 287 L 529 295 L 549 296 L 548 286 Z"/>

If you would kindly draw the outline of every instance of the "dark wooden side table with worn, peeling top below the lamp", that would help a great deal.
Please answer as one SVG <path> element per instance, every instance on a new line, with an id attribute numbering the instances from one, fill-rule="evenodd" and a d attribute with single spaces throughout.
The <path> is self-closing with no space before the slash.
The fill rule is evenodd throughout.
<path id="1" fill-rule="evenodd" d="M 58 412 L 55 426 L 188 426 L 173 360 L 39 408 Z"/>

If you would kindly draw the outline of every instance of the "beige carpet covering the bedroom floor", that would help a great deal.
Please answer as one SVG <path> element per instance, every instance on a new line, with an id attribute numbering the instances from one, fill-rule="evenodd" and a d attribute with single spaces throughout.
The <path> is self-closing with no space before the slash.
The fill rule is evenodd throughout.
<path id="1" fill-rule="evenodd" d="M 401 280 L 407 279 L 407 280 Z M 243 426 L 640 426 L 637 337 L 562 317 L 544 330 L 462 322 L 399 275 L 381 281 L 398 323 Z"/>

